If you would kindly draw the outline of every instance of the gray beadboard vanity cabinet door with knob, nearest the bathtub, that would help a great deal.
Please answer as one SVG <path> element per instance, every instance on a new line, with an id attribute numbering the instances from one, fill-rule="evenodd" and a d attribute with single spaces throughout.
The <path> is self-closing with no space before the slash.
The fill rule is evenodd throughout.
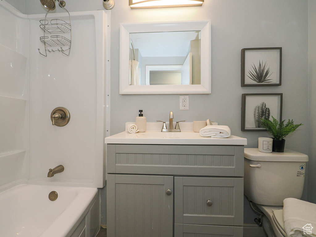
<path id="1" fill-rule="evenodd" d="M 172 237 L 173 176 L 108 174 L 107 235 Z"/>

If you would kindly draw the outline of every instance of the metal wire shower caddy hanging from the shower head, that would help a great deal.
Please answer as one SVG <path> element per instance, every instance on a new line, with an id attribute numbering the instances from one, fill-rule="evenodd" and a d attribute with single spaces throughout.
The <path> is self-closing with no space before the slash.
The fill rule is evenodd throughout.
<path id="1" fill-rule="evenodd" d="M 41 0 L 41 3 L 43 6 L 48 9 L 45 15 L 44 20 L 40 20 L 40 29 L 44 32 L 44 36 L 40 37 L 40 42 L 44 45 L 45 47 L 45 54 L 40 52 L 40 48 L 38 48 L 38 51 L 41 55 L 44 57 L 47 57 L 47 52 L 62 52 L 66 56 L 70 55 L 70 49 L 71 49 L 71 40 L 72 40 L 72 31 L 71 31 L 71 18 L 70 18 L 70 13 L 67 9 L 64 8 L 66 3 L 62 0 L 58 0 L 59 6 L 63 8 L 69 15 L 69 23 L 67 23 L 64 20 L 61 19 L 52 19 L 50 22 L 46 20 L 47 14 L 50 10 L 55 9 L 55 0 L 44 0 L 44 2 Z M 47 4 L 48 3 L 48 4 Z M 49 24 L 50 23 L 50 24 Z M 48 36 L 45 36 L 46 34 L 53 34 L 50 37 L 50 40 Z M 64 36 L 58 35 L 58 33 L 70 33 L 70 40 L 67 39 Z M 49 47 L 58 47 L 55 50 L 52 48 L 49 50 L 47 48 Z M 63 49 L 63 46 L 68 46 L 68 49 Z M 59 49 L 60 47 L 60 49 Z M 68 51 L 68 52 L 67 52 Z"/>

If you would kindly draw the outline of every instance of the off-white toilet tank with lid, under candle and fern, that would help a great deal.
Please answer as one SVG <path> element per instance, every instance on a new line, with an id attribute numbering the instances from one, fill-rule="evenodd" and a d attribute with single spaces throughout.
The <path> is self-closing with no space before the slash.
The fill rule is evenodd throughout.
<path id="1" fill-rule="evenodd" d="M 302 197 L 307 155 L 288 149 L 263 153 L 245 148 L 244 157 L 244 193 L 252 202 L 283 206 L 287 197 Z"/>

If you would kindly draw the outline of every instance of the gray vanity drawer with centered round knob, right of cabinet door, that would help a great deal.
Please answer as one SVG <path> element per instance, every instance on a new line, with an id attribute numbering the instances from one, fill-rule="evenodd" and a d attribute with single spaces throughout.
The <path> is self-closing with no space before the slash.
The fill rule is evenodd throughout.
<path id="1" fill-rule="evenodd" d="M 174 177 L 175 223 L 242 226 L 243 183 L 243 178 Z"/>

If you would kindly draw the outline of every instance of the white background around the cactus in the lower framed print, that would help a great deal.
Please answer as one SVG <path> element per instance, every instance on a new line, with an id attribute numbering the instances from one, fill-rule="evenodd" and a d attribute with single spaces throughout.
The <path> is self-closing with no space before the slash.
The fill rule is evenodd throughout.
<path id="1" fill-rule="evenodd" d="M 261 102 L 265 102 L 266 107 L 270 109 L 270 120 L 272 116 L 280 121 L 280 95 L 247 95 L 245 104 L 245 129 L 262 129 L 255 127 L 254 109 L 260 106 Z"/>

